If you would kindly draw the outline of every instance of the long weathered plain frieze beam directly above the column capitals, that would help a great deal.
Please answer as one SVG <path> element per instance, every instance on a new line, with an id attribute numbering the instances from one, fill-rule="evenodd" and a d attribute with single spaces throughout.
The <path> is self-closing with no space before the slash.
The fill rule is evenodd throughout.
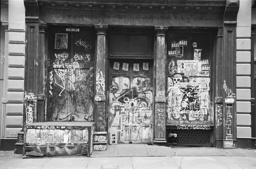
<path id="1" fill-rule="evenodd" d="M 102 23 L 122 26 L 217 27 L 222 25 L 223 19 L 223 13 L 80 11 L 68 9 L 49 10 L 44 8 L 40 8 L 40 16 L 45 23 L 68 23 L 87 26 Z M 102 16 L 104 16 L 104 20 Z"/>

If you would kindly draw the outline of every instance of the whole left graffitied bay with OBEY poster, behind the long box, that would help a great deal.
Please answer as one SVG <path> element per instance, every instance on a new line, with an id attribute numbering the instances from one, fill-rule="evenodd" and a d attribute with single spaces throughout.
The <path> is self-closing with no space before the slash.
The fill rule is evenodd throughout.
<path id="1" fill-rule="evenodd" d="M 94 31 L 49 29 L 48 121 L 93 121 Z"/>

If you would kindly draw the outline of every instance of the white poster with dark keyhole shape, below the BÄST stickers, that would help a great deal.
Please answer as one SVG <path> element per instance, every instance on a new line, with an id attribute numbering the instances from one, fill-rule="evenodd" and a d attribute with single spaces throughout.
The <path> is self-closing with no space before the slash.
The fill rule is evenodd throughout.
<path id="1" fill-rule="evenodd" d="M 201 62 L 198 60 L 177 60 L 178 73 L 184 76 L 195 76 L 201 72 Z"/>

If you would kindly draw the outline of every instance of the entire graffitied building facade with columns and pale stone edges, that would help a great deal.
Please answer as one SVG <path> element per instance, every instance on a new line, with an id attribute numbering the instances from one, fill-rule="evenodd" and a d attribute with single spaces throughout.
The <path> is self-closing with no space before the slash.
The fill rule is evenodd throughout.
<path id="1" fill-rule="evenodd" d="M 2 2 L 1 149 L 255 148 L 254 0 Z"/>

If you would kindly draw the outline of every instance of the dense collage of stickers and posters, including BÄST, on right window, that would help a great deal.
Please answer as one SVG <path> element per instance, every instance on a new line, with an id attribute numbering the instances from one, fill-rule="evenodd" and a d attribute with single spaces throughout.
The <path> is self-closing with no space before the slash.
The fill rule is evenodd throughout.
<path id="1" fill-rule="evenodd" d="M 193 60 L 186 60 L 183 49 L 191 45 Z M 190 123 L 192 120 L 209 120 L 209 59 L 201 59 L 203 49 L 198 43 L 187 40 L 171 41 L 168 51 L 167 76 L 168 120 Z M 175 123 L 175 122 L 174 122 Z"/>

